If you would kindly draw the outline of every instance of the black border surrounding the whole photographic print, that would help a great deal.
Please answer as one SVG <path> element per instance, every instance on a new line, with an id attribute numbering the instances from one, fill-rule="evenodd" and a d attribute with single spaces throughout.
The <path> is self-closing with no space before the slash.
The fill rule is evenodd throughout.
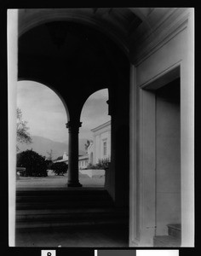
<path id="1" fill-rule="evenodd" d="M 54 1 L 55 2 L 55 1 Z M 57 6 L 55 6 L 55 3 L 57 3 Z M 60 3 L 60 6 L 58 6 L 58 0 L 53 3 L 50 1 L 1 1 L 0 2 L 0 102 L 1 102 L 1 146 L 0 146 L 0 254 L 1 255 L 28 255 L 28 256 L 40 256 L 41 255 L 41 250 L 53 250 L 56 249 L 56 256 L 94 256 L 95 249 L 101 250 L 101 248 L 64 248 L 64 247 L 9 247 L 9 211 L 8 211 L 8 86 L 7 86 L 7 9 L 19 9 L 19 8 L 62 8 L 62 7 L 95 7 L 97 6 L 97 2 L 87 2 L 83 1 L 83 3 L 76 3 L 76 1 L 73 2 L 66 2 L 65 4 Z M 63 2 L 64 3 L 64 2 Z M 135 4 L 135 7 L 151 7 L 153 2 L 142 2 L 139 1 L 137 3 L 136 1 L 129 1 L 129 3 L 126 3 L 126 1 L 123 1 L 122 5 L 119 5 L 120 1 L 117 3 L 109 4 L 103 3 L 103 1 L 100 2 L 100 4 L 97 7 L 111 7 L 110 5 L 113 5 L 114 7 L 130 7 Z M 132 4 L 130 4 L 132 3 Z M 150 4 L 152 3 L 152 4 Z M 172 1 L 170 2 L 163 2 L 164 6 L 166 7 L 195 7 L 193 5 L 192 1 L 187 3 L 187 2 L 182 2 L 179 4 L 177 1 Z M 155 3 L 153 4 L 153 7 L 161 7 L 162 2 L 160 3 Z M 195 46 L 198 44 L 198 24 L 200 24 L 200 20 L 198 20 L 198 7 L 195 8 L 195 34 L 196 34 L 196 39 L 195 39 Z M 196 33 L 197 32 L 197 33 Z M 199 45 L 199 44 L 198 44 Z M 196 51 L 196 61 L 198 60 L 198 55 L 200 50 L 197 51 L 197 48 L 195 48 Z M 196 62 L 195 64 L 197 64 Z M 199 65 L 199 64 L 198 64 Z M 199 70 L 199 66 L 196 65 L 196 70 Z M 198 83 L 198 79 L 196 79 L 196 82 Z M 197 84 L 198 85 L 198 84 Z M 199 84 L 200 85 L 200 84 Z M 195 83 L 195 110 L 196 110 L 196 115 L 195 119 L 198 120 L 198 86 L 196 87 Z M 196 130 L 195 131 L 200 131 L 198 129 L 198 124 L 199 122 L 196 122 Z M 195 134 L 197 136 L 197 133 Z M 196 137 L 198 138 L 198 137 Z M 200 145 L 200 144 L 199 144 Z M 195 140 L 195 149 L 198 149 L 198 140 Z M 200 229 L 200 218 L 198 214 L 198 206 L 201 203 L 200 200 L 200 182 L 199 182 L 199 177 L 200 177 L 200 172 L 198 172 L 198 166 L 195 166 L 195 188 L 196 188 L 196 197 L 195 197 L 195 212 L 196 212 L 196 220 L 195 220 L 195 247 L 185 247 L 185 248 L 178 248 L 180 250 L 180 256 L 184 255 L 189 255 L 189 256 L 195 256 L 195 255 L 200 255 L 199 253 L 199 247 L 201 247 L 201 241 L 199 241 L 199 233 L 201 232 Z M 102 248 L 102 250 L 108 250 L 107 255 L 108 256 L 120 256 L 120 255 L 127 255 L 130 256 L 131 252 L 133 253 L 134 248 L 128 248 L 128 253 L 125 253 L 125 248 Z M 118 249 L 118 253 L 116 250 Z M 136 249 L 154 249 L 154 250 L 159 250 L 159 248 L 153 248 L 153 247 L 137 247 Z M 171 248 L 161 248 L 161 249 L 167 249 L 171 250 Z M 177 249 L 177 248 L 172 248 L 172 249 Z M 134 255 L 134 254 L 133 254 Z M 163 254 L 161 254 L 163 256 Z"/>

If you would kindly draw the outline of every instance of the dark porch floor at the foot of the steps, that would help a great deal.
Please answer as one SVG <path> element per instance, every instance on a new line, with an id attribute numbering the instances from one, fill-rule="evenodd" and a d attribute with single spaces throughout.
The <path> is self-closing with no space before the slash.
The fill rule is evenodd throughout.
<path id="1" fill-rule="evenodd" d="M 51 231 L 17 230 L 16 247 L 129 247 L 128 231 L 122 228 L 82 227 Z"/>

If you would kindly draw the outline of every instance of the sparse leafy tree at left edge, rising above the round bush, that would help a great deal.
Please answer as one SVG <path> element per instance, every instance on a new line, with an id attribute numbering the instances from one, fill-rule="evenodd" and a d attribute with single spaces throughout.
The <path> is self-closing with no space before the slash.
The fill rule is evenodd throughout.
<path id="1" fill-rule="evenodd" d="M 27 122 L 23 121 L 20 108 L 17 108 L 17 143 L 32 143 L 32 138 L 28 132 Z M 20 148 L 17 145 L 17 151 Z"/>

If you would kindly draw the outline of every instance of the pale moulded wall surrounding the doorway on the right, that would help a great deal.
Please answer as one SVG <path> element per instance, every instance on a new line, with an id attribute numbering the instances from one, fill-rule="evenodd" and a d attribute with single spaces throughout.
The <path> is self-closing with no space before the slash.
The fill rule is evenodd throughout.
<path id="1" fill-rule="evenodd" d="M 130 145 L 134 157 L 130 161 L 131 247 L 152 246 L 156 225 L 155 96 L 146 88 L 163 80 L 175 67 L 181 70 L 181 245 L 193 246 L 193 17 L 193 9 L 187 9 L 175 20 L 169 18 L 169 24 L 165 20 L 169 27 L 156 33 L 158 44 L 154 48 L 148 43 L 152 51 L 131 70 L 133 114 L 136 109 L 135 121 L 130 122 L 132 137 L 136 138 Z"/>

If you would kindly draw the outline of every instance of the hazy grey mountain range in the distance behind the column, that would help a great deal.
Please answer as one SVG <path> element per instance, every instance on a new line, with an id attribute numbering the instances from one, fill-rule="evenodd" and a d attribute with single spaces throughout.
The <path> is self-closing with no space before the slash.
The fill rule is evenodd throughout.
<path id="1" fill-rule="evenodd" d="M 86 154 L 86 150 L 84 148 L 84 144 L 87 143 L 87 139 L 80 138 L 79 139 L 79 154 Z M 48 152 L 52 150 L 52 159 L 55 160 L 59 156 L 62 156 L 64 152 L 68 154 L 68 144 L 67 142 L 59 143 L 50 140 L 46 137 L 32 136 L 32 143 L 23 143 L 19 144 L 20 152 L 25 151 L 26 149 L 32 149 L 36 151 L 38 154 L 43 156 L 49 156 Z"/>

